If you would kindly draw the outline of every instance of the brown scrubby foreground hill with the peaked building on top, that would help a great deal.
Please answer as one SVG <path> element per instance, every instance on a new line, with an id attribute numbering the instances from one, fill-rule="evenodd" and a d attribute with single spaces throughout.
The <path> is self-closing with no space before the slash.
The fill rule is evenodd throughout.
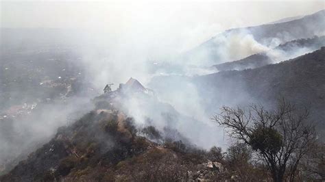
<path id="1" fill-rule="evenodd" d="M 95 99 L 108 105 L 101 103 L 72 125 L 60 127 L 0 181 L 188 181 L 235 174 L 215 161 L 213 153 L 175 140 L 180 135 L 175 129 L 136 127 L 109 98 Z"/>

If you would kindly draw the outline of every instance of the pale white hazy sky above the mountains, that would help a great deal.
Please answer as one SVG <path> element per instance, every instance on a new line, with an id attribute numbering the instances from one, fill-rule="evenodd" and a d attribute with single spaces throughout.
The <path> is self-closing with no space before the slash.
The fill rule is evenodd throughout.
<path id="1" fill-rule="evenodd" d="M 323 9 L 325 1 L 1 1 L 0 15 L 1 27 L 82 28 L 184 51 L 224 29 Z"/>

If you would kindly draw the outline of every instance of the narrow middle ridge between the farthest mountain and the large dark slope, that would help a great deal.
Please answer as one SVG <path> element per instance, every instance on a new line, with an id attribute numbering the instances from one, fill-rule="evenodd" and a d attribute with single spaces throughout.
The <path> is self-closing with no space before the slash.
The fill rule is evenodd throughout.
<path id="1" fill-rule="evenodd" d="M 225 62 L 216 64 L 213 67 L 217 68 L 218 71 L 224 70 L 245 70 L 248 68 L 258 68 L 267 64 L 282 61 L 287 58 L 296 57 L 300 53 L 308 53 L 309 51 L 315 51 L 325 46 L 325 36 L 315 36 L 313 38 L 301 38 L 298 40 L 291 40 L 284 44 L 278 45 L 275 49 L 267 51 L 265 53 L 257 53 L 250 55 L 241 60 L 234 62 Z M 268 54 L 269 53 L 269 54 Z M 272 60 L 274 53 L 281 54 L 282 60 Z"/>

